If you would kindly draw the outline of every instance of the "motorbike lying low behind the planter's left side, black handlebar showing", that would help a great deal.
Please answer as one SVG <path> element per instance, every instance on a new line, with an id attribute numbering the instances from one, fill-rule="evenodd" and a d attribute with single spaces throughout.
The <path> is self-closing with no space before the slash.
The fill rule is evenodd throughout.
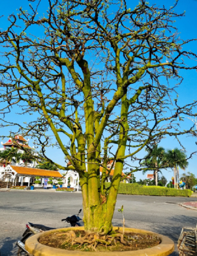
<path id="1" fill-rule="evenodd" d="M 66 219 L 62 219 L 61 221 L 65 221 L 71 224 L 71 227 L 82 226 L 79 221 L 82 220 L 79 217 L 82 209 L 79 210 L 78 215 L 72 215 L 71 217 L 67 217 Z M 47 227 L 41 224 L 33 224 L 28 222 L 26 224 L 26 230 L 22 235 L 22 239 L 17 242 L 17 246 L 19 247 L 17 256 L 31 256 L 31 254 L 25 249 L 25 241 L 32 235 L 39 234 L 41 232 L 45 232 L 48 230 L 53 230 L 55 228 Z"/>

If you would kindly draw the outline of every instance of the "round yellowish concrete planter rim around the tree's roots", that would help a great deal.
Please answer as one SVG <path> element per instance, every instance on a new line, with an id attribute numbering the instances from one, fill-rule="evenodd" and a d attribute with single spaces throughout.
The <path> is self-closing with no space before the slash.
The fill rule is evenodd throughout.
<path id="1" fill-rule="evenodd" d="M 84 227 L 75 227 L 75 228 L 58 228 L 56 230 L 49 230 L 37 235 L 33 235 L 28 238 L 25 242 L 25 249 L 30 252 L 33 256 L 167 256 L 174 251 L 174 242 L 164 235 L 160 235 L 154 232 L 136 229 L 136 228 L 125 228 L 125 233 L 136 232 L 147 235 L 156 235 L 159 236 L 162 242 L 158 246 L 152 248 L 147 248 L 143 250 L 135 251 L 124 251 L 124 252 L 81 252 L 81 251 L 71 251 L 56 249 L 46 245 L 41 245 L 38 242 L 39 237 L 55 233 L 57 231 L 68 231 L 68 230 L 84 230 Z M 114 227 L 113 229 L 117 229 Z M 122 230 L 122 228 L 120 228 Z"/>

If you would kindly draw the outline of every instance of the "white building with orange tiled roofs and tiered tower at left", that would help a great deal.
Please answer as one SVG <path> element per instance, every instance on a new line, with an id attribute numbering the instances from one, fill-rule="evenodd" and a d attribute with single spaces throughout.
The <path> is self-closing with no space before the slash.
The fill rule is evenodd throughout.
<path id="1" fill-rule="evenodd" d="M 9 138 L 6 143 L 2 142 L 3 148 L 0 151 L 4 151 L 8 148 L 18 148 L 18 153 L 24 153 L 23 148 L 32 149 L 28 145 L 28 140 L 26 140 L 22 135 L 16 135 L 15 138 Z M 71 188 L 79 190 L 79 175 L 77 172 L 72 170 L 65 173 L 62 176 L 58 171 L 43 170 L 35 168 L 38 163 L 36 161 L 28 161 L 25 163 L 24 160 L 20 159 L 19 162 L 15 161 L 15 157 L 11 159 L 11 162 L 6 162 L 4 159 L 0 161 L 0 179 L 5 182 L 11 182 L 13 185 L 19 184 L 20 186 L 30 186 L 34 183 L 35 177 L 40 177 L 40 184 L 34 184 L 35 187 L 43 187 L 44 179 L 54 178 L 53 183 L 58 183 L 58 178 L 62 179 L 62 187 L 67 187 L 70 185 Z M 47 187 L 52 187 L 52 185 L 47 185 Z"/>

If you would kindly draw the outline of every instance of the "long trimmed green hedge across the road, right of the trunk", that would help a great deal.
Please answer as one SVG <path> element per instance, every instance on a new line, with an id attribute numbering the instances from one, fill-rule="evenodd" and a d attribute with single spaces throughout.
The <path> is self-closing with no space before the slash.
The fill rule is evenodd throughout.
<path id="1" fill-rule="evenodd" d="M 106 182 L 106 188 L 111 183 Z M 147 195 L 147 196 L 191 196 L 190 189 L 169 189 L 167 187 L 139 186 L 138 183 L 120 183 L 118 194 Z"/>

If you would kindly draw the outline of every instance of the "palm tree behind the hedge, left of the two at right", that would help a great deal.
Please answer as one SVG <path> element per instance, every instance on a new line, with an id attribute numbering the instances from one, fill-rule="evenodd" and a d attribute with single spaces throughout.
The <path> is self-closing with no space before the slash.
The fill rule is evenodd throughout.
<path id="1" fill-rule="evenodd" d="M 165 159 L 165 149 L 162 147 L 158 147 L 158 145 L 153 146 L 152 149 L 147 148 L 148 155 L 146 156 L 146 160 L 143 162 L 144 165 L 148 167 L 147 170 L 143 171 L 143 174 L 148 170 L 154 169 L 154 180 L 155 185 L 158 185 L 158 172 L 161 172 L 160 168 L 164 163 Z"/>

